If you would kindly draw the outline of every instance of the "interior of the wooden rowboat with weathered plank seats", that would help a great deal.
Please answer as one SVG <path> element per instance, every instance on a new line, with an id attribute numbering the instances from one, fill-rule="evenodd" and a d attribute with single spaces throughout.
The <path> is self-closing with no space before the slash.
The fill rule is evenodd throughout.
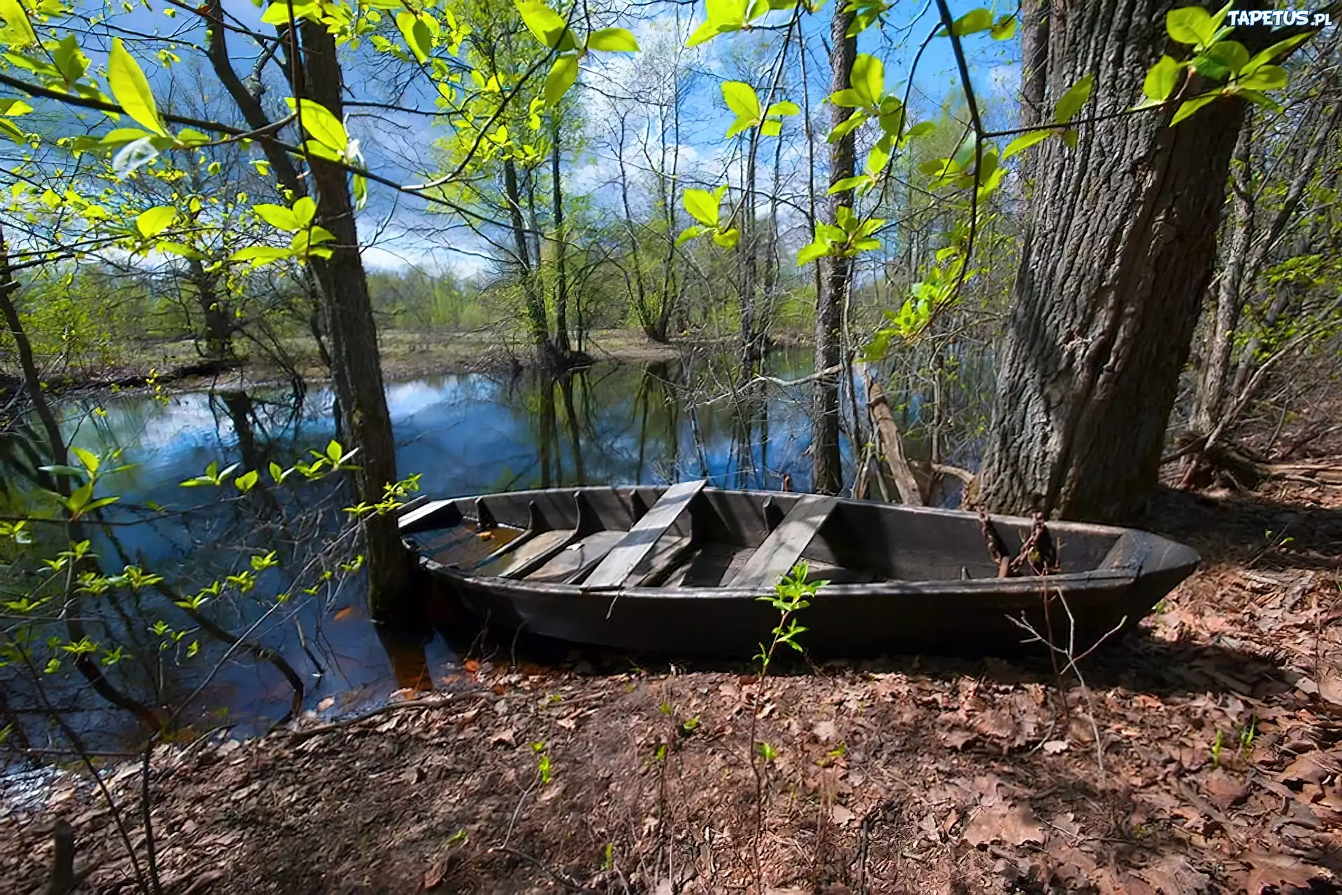
<path id="1" fill-rule="evenodd" d="M 813 494 L 659 487 L 518 491 L 423 503 L 400 518 L 419 556 L 474 577 L 568 584 L 768 589 L 801 560 L 831 584 L 997 578 L 973 515 Z M 994 518 L 1004 553 L 1029 522 Z M 1119 565 L 1122 530 L 1048 526 L 1059 568 Z"/>

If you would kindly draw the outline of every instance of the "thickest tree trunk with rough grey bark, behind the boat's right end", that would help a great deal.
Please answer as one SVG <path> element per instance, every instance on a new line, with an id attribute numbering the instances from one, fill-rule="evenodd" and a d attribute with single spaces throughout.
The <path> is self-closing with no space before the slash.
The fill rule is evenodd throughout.
<path id="1" fill-rule="evenodd" d="M 1048 97 L 1095 75 L 1091 114 L 1139 97 L 1174 0 L 1055 3 Z M 978 502 L 1125 519 L 1157 484 L 1165 427 L 1216 258 L 1243 103 L 1040 145 Z"/>

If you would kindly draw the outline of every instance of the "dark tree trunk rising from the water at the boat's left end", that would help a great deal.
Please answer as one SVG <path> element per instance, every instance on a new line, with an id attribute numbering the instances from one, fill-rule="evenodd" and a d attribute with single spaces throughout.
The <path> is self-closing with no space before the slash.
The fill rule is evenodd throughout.
<path id="1" fill-rule="evenodd" d="M 344 119 L 336 39 L 321 24 L 305 23 L 301 31 L 307 97 L 337 119 Z M 311 158 L 310 165 L 317 192 L 317 223 L 336 236 L 329 243 L 331 256 L 315 266 L 330 327 L 331 374 L 345 415 L 345 429 L 358 448 L 358 470 L 354 474 L 358 499 L 373 503 L 384 499 L 386 484 L 397 480 L 396 441 L 382 389 L 377 326 L 358 252 L 348 176 L 341 166 L 319 158 Z M 400 615 L 397 601 L 409 580 L 396 517 L 368 517 L 364 534 L 369 612 L 374 619 L 389 620 Z"/>

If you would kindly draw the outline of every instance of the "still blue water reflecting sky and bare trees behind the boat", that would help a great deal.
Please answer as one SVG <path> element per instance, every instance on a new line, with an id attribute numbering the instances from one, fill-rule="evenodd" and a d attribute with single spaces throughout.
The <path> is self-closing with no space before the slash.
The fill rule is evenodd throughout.
<path id="1" fill-rule="evenodd" d="M 764 372 L 776 381 L 801 378 L 811 361 L 805 353 L 777 352 Z M 562 378 L 444 374 L 389 384 L 386 392 L 401 474 L 419 472 L 421 491 L 433 496 L 687 478 L 777 490 L 790 476 L 796 490 L 809 490 L 807 386 L 756 382 L 730 389 L 723 385 L 730 381 L 726 370 L 701 358 L 600 364 Z M 906 413 L 918 415 L 917 404 L 905 404 Z M 242 501 L 228 488 L 178 483 L 212 460 L 250 470 L 266 470 L 271 462 L 287 467 L 306 450 L 325 445 L 336 435 L 329 390 L 189 393 L 166 403 L 121 396 L 94 408 L 93 400 L 63 408 L 67 439 L 105 456 L 117 451 L 121 463 L 132 464 L 101 486 L 122 495 L 103 515 L 106 525 L 89 535 L 102 572 L 136 565 L 164 581 L 99 597 L 99 629 L 90 635 L 126 644 L 114 670 L 118 686 L 152 694 L 154 704 L 177 706 L 203 687 L 176 719 L 183 735 L 220 725 L 252 733 L 294 711 L 295 700 L 341 711 L 397 690 L 431 688 L 456 674 L 454 655 L 472 631 L 456 631 L 466 643 L 450 644 L 442 631 L 455 636 L 451 624 L 424 635 L 377 628 L 353 586 L 295 598 L 278 611 L 267 609 L 274 600 L 228 590 L 200 609 L 174 605 L 216 577 L 236 573 L 262 547 L 276 551 L 279 566 L 258 576 L 258 593 L 283 593 L 297 566 L 313 561 L 322 526 L 344 506 L 334 487 L 295 491 L 263 474 L 255 494 Z M 35 501 L 42 462 L 32 439 L 23 431 L 0 437 L 7 513 L 23 513 Z M 851 463 L 847 443 L 843 455 Z M 845 480 L 852 478 L 845 470 Z M 164 510 L 172 515 L 162 517 Z M 266 543 L 258 545 L 258 533 L 266 533 Z M 191 633 L 164 649 L 162 637 L 149 629 L 158 620 Z M 199 655 L 187 655 L 191 641 Z M 211 676 L 225 653 L 228 660 Z M 0 684 L 8 695 L 0 711 L 24 719 L 32 739 L 44 723 L 38 695 L 17 680 Z M 126 745 L 138 735 L 133 719 L 98 703 L 76 680 L 62 698 L 67 707 L 83 708 L 71 718 L 91 742 Z"/>

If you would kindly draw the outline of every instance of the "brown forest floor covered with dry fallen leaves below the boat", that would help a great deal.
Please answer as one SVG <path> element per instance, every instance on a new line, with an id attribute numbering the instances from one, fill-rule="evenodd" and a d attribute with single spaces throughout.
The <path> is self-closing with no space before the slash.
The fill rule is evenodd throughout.
<path id="1" fill-rule="evenodd" d="M 1342 891 L 1342 488 L 1166 491 L 1146 527 L 1202 568 L 1084 686 L 910 657 L 761 690 L 503 648 L 369 718 L 164 750 L 164 892 L 753 892 L 756 855 L 777 895 Z M 777 750 L 758 788 L 753 706 Z M 138 768 L 110 789 L 142 855 Z M 133 891 L 72 776 L 0 809 L 0 890 L 39 888 L 56 817 L 82 891 Z"/>

